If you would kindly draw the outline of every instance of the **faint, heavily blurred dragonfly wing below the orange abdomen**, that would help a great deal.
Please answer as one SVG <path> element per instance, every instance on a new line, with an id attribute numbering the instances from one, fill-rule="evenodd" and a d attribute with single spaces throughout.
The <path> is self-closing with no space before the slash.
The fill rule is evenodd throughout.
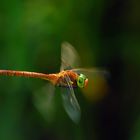
<path id="1" fill-rule="evenodd" d="M 54 90 L 52 84 L 47 84 L 33 94 L 35 107 L 48 122 L 53 121 L 55 116 Z"/>

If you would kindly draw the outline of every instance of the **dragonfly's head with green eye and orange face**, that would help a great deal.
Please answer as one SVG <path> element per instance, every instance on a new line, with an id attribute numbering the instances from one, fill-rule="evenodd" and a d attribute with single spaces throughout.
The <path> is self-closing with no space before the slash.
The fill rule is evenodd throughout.
<path id="1" fill-rule="evenodd" d="M 77 79 L 77 85 L 80 88 L 84 88 L 88 85 L 88 79 L 84 74 L 80 74 Z"/>

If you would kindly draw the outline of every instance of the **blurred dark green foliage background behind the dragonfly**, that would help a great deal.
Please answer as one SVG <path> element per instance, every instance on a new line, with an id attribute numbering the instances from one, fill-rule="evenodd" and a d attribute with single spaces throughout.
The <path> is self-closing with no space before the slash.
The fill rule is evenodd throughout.
<path id="1" fill-rule="evenodd" d="M 96 84 L 100 97 L 105 90 L 102 98 L 76 91 L 82 109 L 76 125 L 63 109 L 59 89 L 47 120 L 33 103 L 46 81 L 1 76 L 0 140 L 139 140 L 139 5 L 136 0 L 1 0 L 1 69 L 58 72 L 60 45 L 68 41 L 83 67 L 103 67 L 110 77 L 109 90 Z"/>

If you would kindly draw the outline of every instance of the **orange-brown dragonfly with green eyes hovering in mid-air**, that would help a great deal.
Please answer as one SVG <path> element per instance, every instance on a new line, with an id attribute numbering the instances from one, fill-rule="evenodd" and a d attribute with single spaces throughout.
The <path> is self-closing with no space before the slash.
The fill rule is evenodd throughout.
<path id="1" fill-rule="evenodd" d="M 80 105 L 76 99 L 74 89 L 85 88 L 88 86 L 88 78 L 81 71 L 86 69 L 78 68 L 80 57 L 75 48 L 68 42 L 61 45 L 61 66 L 60 72 L 45 74 L 29 71 L 0 70 L 0 75 L 39 78 L 49 81 L 52 85 L 62 89 L 62 100 L 68 116 L 74 121 L 79 122 L 81 116 Z M 75 68 L 77 67 L 77 68 Z M 91 70 L 94 73 L 99 71 Z"/>

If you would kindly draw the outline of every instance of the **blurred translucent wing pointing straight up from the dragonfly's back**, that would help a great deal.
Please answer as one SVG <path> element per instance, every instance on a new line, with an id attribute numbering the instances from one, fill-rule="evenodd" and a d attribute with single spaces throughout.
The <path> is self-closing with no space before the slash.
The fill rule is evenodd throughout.
<path id="1" fill-rule="evenodd" d="M 61 46 L 61 67 L 60 71 L 78 67 L 80 64 L 80 57 L 75 48 L 68 42 L 63 42 Z"/>

